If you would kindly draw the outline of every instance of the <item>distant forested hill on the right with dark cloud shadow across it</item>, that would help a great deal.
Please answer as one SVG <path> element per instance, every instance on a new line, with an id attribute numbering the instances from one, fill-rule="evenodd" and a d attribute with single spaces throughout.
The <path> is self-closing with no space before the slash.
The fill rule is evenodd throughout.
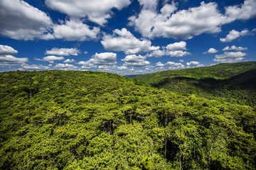
<path id="1" fill-rule="evenodd" d="M 133 79 L 159 89 L 256 107 L 256 62 L 168 70 Z"/>

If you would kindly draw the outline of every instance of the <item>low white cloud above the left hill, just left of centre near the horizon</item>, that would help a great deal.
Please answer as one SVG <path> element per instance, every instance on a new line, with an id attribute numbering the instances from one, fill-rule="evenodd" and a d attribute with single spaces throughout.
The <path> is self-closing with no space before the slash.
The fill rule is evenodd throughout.
<path id="1" fill-rule="evenodd" d="M 113 65 L 117 63 L 117 54 L 113 52 L 102 52 L 92 55 L 90 60 L 78 62 L 82 69 L 102 68 L 100 66 Z"/>

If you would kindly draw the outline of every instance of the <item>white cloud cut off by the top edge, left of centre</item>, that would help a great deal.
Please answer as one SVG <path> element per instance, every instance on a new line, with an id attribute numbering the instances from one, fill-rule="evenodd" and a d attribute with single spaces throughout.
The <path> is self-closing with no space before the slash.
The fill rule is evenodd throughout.
<path id="1" fill-rule="evenodd" d="M 87 17 L 90 21 L 103 25 L 111 18 L 112 8 L 121 10 L 131 3 L 129 0 L 46 0 L 50 8 L 66 13 L 71 18 Z"/>

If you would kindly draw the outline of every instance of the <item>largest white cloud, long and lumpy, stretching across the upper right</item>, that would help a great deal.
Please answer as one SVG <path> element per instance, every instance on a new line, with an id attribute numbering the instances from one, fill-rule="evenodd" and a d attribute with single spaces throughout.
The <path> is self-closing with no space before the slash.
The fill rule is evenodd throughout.
<path id="1" fill-rule="evenodd" d="M 215 2 L 202 1 L 200 6 L 177 11 L 178 5 L 173 1 L 159 12 L 156 8 L 143 7 L 139 15 L 129 18 L 129 26 L 134 26 L 145 38 L 190 39 L 202 33 L 219 33 L 226 23 L 252 18 L 256 13 L 255 4 L 255 0 L 245 0 L 240 6 L 228 6 L 223 14 Z"/>

